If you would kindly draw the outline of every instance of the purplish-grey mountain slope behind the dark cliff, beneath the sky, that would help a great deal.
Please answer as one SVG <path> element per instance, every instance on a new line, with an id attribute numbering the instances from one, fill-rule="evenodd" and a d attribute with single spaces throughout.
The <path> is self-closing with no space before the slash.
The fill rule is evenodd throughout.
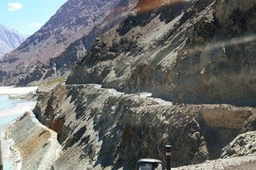
<path id="1" fill-rule="evenodd" d="M 63 76 L 90 49 L 95 38 L 116 26 L 130 8 L 132 0 L 67 1 L 41 29 L 0 60 L 0 84 L 39 84 L 51 76 Z M 88 38 L 80 53 L 67 56 L 62 65 L 51 61 L 82 37 Z M 56 72 L 61 67 L 64 69 Z"/>

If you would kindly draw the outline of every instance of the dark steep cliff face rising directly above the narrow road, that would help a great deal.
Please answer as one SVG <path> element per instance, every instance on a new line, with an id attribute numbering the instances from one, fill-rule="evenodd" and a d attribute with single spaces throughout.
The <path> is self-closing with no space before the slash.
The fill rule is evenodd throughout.
<path id="1" fill-rule="evenodd" d="M 67 83 L 252 105 L 255 10 L 254 1 L 178 1 L 137 13 L 101 36 Z"/>

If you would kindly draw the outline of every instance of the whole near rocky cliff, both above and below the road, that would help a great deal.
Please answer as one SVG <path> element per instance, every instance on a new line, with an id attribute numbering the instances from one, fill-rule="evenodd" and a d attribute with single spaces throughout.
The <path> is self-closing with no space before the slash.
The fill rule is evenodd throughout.
<path id="1" fill-rule="evenodd" d="M 173 166 L 255 167 L 255 7 L 139 0 L 33 110 L 62 145 L 52 168 L 135 169 L 165 144 Z"/>

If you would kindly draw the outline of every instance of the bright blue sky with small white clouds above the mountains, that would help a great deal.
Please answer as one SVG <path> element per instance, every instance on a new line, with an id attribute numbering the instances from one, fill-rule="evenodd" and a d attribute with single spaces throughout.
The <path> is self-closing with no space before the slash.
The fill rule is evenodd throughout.
<path id="1" fill-rule="evenodd" d="M 0 24 L 32 35 L 67 0 L 0 0 Z"/>

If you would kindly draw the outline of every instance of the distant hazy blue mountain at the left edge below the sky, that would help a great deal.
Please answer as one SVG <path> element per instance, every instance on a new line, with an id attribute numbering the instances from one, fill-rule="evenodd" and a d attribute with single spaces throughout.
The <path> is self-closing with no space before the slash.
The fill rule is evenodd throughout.
<path id="1" fill-rule="evenodd" d="M 18 31 L 0 25 L 0 59 L 27 39 Z"/>

